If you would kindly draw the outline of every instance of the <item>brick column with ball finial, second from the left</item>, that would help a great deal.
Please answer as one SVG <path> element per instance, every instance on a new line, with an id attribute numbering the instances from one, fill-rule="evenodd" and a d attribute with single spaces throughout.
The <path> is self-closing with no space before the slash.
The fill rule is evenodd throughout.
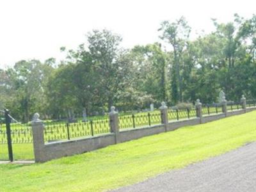
<path id="1" fill-rule="evenodd" d="M 118 112 L 115 111 L 115 107 L 111 107 L 111 111 L 109 112 L 109 122 L 110 122 L 110 132 L 115 133 L 115 143 L 119 143 L 119 119 Z"/>

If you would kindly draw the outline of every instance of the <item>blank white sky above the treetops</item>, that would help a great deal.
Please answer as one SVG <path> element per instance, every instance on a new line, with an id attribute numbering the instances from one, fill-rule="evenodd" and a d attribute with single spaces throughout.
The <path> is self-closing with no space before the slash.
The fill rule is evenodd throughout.
<path id="1" fill-rule="evenodd" d="M 0 0 L 0 68 L 22 59 L 60 60 L 60 47 L 76 49 L 92 29 L 109 29 L 123 37 L 122 46 L 159 41 L 163 20 L 182 15 L 193 30 L 212 31 L 211 18 L 221 22 L 234 13 L 248 18 L 255 0 Z"/>

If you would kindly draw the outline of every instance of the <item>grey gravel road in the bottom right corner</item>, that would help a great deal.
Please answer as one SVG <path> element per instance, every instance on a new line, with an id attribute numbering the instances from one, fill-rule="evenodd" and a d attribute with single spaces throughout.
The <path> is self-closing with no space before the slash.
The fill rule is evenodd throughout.
<path id="1" fill-rule="evenodd" d="M 255 192 L 256 143 L 115 191 Z"/>

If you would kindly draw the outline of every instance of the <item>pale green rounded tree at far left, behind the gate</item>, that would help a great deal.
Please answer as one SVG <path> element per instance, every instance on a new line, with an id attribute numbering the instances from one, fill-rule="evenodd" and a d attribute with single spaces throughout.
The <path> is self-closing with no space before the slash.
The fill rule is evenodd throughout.
<path id="1" fill-rule="evenodd" d="M 12 109 L 14 116 L 28 122 L 36 111 L 44 113 L 46 106 L 45 85 L 52 67 L 38 60 L 21 60 L 13 68 L 6 70 L 8 92 L 6 108 Z"/>

